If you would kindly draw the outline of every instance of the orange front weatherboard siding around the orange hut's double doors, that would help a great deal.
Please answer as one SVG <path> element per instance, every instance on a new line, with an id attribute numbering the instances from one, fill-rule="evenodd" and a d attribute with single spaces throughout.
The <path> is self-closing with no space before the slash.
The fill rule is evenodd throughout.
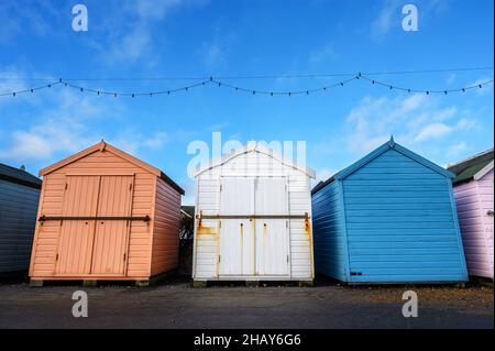
<path id="1" fill-rule="evenodd" d="M 152 216 L 156 176 L 122 157 L 106 152 L 95 152 L 44 177 L 43 196 L 38 215 L 62 216 L 65 185 L 69 175 L 134 175 L 131 216 Z M 144 278 L 151 274 L 150 251 L 154 222 L 132 221 L 129 234 L 128 268 L 130 278 Z M 55 263 L 61 222 L 37 223 L 35 250 L 33 250 L 31 276 L 55 276 Z"/>

